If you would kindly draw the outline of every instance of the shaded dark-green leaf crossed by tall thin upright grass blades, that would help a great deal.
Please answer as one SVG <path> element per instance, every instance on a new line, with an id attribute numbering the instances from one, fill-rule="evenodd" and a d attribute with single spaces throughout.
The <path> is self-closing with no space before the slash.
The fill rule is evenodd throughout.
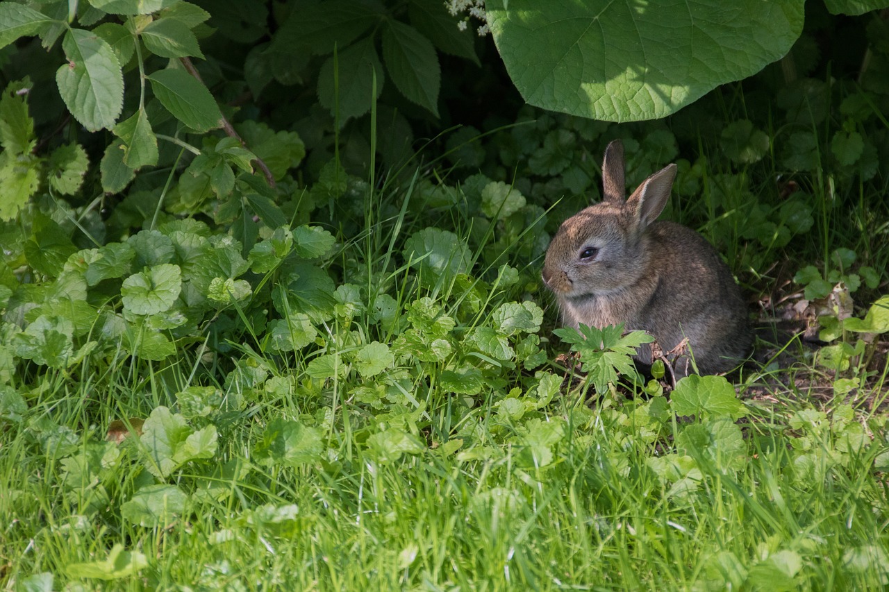
<path id="1" fill-rule="evenodd" d="M 339 103 L 340 124 L 344 124 L 349 118 L 363 116 L 371 110 L 372 101 L 380 98 L 385 76 L 372 37 L 348 46 L 338 52 L 335 59 L 339 65 L 339 86 L 334 81 L 332 56 L 324 61 L 318 74 L 318 102 L 331 114 L 336 112 Z M 372 95 L 374 75 L 377 88 Z"/>

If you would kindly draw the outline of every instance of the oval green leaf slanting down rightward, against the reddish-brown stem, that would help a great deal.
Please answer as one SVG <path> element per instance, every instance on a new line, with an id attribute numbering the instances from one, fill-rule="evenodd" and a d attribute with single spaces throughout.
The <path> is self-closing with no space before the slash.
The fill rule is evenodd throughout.
<path id="1" fill-rule="evenodd" d="M 167 111 L 196 132 L 220 127 L 222 113 L 204 84 L 184 70 L 168 68 L 148 76 L 151 90 Z"/>

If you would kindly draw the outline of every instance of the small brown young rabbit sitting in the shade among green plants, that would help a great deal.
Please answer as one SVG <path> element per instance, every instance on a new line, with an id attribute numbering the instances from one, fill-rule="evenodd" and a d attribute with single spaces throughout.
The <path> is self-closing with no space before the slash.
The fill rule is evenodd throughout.
<path id="1" fill-rule="evenodd" d="M 657 220 L 675 177 L 676 164 L 669 164 L 624 201 L 623 144 L 613 140 L 602 164 L 603 200 L 562 223 L 541 276 L 566 325 L 623 323 L 649 332 L 680 377 L 693 366 L 701 374 L 728 372 L 752 344 L 747 307 L 711 244 L 691 228 Z M 652 364 L 650 344 L 637 360 Z"/>

